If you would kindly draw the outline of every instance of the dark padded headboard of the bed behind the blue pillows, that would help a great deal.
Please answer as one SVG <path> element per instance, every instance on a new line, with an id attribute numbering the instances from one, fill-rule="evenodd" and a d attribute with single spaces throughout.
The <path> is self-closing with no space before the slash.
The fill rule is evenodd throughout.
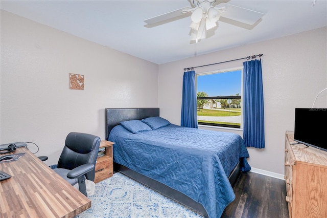
<path id="1" fill-rule="evenodd" d="M 140 108 L 105 108 L 106 140 L 113 127 L 127 120 L 142 120 L 148 117 L 158 117 L 158 107 Z"/>

